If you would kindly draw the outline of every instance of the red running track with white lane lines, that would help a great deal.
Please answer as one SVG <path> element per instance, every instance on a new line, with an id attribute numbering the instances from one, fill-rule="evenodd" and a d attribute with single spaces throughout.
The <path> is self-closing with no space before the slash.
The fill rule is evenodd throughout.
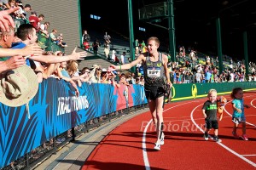
<path id="1" fill-rule="evenodd" d="M 225 95 L 230 99 L 228 95 Z M 204 99 L 165 105 L 165 144 L 154 150 L 155 132 L 149 111 L 116 127 L 84 162 L 85 169 L 256 169 L 256 93 L 244 94 L 248 141 L 234 139 L 230 102 L 219 122 L 222 143 L 203 138 Z M 213 130 L 210 131 L 210 134 Z M 241 134 L 241 127 L 237 129 Z"/>

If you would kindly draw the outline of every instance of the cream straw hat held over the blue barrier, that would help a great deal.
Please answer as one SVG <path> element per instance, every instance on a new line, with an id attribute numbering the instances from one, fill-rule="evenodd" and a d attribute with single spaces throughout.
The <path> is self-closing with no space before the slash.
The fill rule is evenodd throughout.
<path id="1" fill-rule="evenodd" d="M 4 105 L 27 105 L 37 92 L 37 76 L 27 65 L 0 74 L 0 102 Z"/>

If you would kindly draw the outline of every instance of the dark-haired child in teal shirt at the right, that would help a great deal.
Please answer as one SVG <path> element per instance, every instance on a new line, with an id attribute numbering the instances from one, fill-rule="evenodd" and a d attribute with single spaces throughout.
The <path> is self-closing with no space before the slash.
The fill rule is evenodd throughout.
<path id="1" fill-rule="evenodd" d="M 238 125 L 241 123 L 242 127 L 242 135 L 241 138 L 244 140 L 248 140 L 246 134 L 246 117 L 244 115 L 244 107 L 249 108 L 248 105 L 244 104 L 243 99 L 243 91 L 241 88 L 234 88 L 231 93 L 232 107 L 233 107 L 233 116 L 232 122 L 234 122 L 233 126 L 233 136 L 238 139 L 239 135 L 236 133 L 236 129 Z"/>

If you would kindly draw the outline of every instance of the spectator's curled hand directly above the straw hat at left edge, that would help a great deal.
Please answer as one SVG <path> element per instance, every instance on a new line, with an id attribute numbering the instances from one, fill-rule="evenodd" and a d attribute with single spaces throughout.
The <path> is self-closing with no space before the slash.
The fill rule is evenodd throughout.
<path id="1" fill-rule="evenodd" d="M 25 64 L 26 64 L 26 59 L 21 55 L 16 55 L 16 56 L 10 57 L 9 59 L 3 62 L 0 62 L 0 72 L 13 70 Z"/>

